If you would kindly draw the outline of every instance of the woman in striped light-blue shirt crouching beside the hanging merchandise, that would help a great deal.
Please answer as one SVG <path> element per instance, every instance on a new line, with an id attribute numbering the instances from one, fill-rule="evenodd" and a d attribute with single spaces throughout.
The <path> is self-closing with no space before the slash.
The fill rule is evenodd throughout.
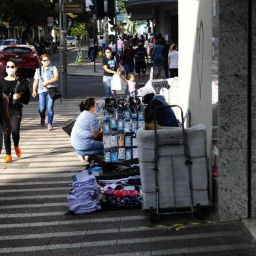
<path id="1" fill-rule="evenodd" d="M 80 160 L 85 155 L 103 155 L 103 142 L 98 141 L 103 136 L 103 131 L 99 131 L 99 123 L 95 111 L 96 100 L 88 98 L 80 106 L 82 113 L 76 119 L 71 133 L 71 144 L 76 150 Z"/>

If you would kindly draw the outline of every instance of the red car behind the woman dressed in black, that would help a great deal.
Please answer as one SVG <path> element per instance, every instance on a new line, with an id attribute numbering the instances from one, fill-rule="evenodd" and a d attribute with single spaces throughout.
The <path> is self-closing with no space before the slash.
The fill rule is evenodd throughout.
<path id="1" fill-rule="evenodd" d="M 1 62 L 8 59 L 16 61 L 19 65 L 18 74 L 21 76 L 34 76 L 35 69 L 39 67 L 39 56 L 34 46 L 27 44 L 10 45 L 1 52 Z"/>

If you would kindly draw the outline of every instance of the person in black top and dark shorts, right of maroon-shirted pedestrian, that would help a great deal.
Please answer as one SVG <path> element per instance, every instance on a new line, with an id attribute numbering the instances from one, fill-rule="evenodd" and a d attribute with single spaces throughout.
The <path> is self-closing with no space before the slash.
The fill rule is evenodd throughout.
<path id="1" fill-rule="evenodd" d="M 135 71 L 138 74 L 138 85 L 144 85 L 144 79 L 146 74 L 146 61 L 148 62 L 148 54 L 146 48 L 143 46 L 143 42 L 138 42 L 138 47 L 135 49 Z"/>

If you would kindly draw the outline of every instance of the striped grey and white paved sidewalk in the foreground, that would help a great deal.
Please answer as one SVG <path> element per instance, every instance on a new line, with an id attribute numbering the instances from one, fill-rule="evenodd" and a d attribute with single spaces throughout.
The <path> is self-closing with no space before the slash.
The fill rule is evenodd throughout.
<path id="1" fill-rule="evenodd" d="M 79 102 L 56 101 L 54 131 L 40 127 L 37 102 L 24 106 L 23 155 L 17 159 L 12 150 L 13 163 L 0 163 L 0 254 L 255 256 L 243 221 L 174 214 L 152 225 L 140 209 L 65 216 L 71 176 L 84 166 L 61 125 L 79 114 Z M 255 222 L 248 225 L 255 232 Z"/>

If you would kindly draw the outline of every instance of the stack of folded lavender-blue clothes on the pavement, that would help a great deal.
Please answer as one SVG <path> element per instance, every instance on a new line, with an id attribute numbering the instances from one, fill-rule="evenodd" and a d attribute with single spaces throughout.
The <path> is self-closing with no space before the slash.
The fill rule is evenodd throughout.
<path id="1" fill-rule="evenodd" d="M 69 211 L 74 214 L 86 214 L 101 209 L 98 199 L 98 184 L 94 176 L 73 182 L 73 189 L 69 193 Z"/>

